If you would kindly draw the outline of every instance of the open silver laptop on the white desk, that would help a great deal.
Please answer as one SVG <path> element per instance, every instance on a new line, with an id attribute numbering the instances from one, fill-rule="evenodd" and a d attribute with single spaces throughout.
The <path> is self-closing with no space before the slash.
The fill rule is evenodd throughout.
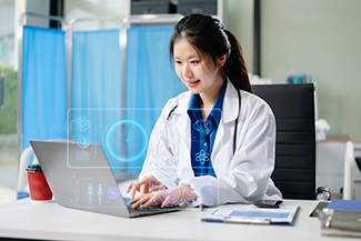
<path id="1" fill-rule="evenodd" d="M 134 210 L 128 205 L 129 199 L 122 197 L 119 184 L 134 175 L 120 174 L 116 179 L 100 144 L 90 144 L 92 163 L 89 165 L 89 153 L 82 152 L 76 143 L 38 140 L 30 143 L 57 203 L 62 207 L 124 218 L 180 210 Z"/>

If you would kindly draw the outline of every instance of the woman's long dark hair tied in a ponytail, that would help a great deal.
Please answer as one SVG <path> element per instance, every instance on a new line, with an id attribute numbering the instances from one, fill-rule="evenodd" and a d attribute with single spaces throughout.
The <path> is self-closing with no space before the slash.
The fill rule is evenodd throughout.
<path id="1" fill-rule="evenodd" d="M 174 27 L 174 33 L 170 41 L 171 59 L 173 59 L 176 41 L 182 38 L 185 38 L 201 57 L 212 59 L 215 66 L 219 58 L 227 54 L 222 74 L 228 76 L 237 89 L 253 93 L 241 44 L 218 19 L 199 13 L 182 18 Z"/>

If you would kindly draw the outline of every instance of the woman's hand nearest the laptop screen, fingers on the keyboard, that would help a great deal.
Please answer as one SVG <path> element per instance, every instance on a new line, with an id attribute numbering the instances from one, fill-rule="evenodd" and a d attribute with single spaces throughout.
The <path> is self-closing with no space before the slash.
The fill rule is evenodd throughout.
<path id="1" fill-rule="evenodd" d="M 146 175 L 141 181 L 130 183 L 127 189 L 127 193 L 130 192 L 131 199 L 134 199 L 136 192 L 139 191 L 141 194 L 157 191 L 162 183 L 158 181 L 153 175 Z"/>

